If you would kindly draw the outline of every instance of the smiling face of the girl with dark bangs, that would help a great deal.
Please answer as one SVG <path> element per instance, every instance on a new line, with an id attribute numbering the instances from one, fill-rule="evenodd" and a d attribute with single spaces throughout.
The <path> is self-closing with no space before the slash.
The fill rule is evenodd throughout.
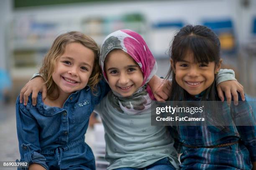
<path id="1" fill-rule="evenodd" d="M 173 63 L 171 60 L 171 63 L 177 83 L 190 95 L 198 95 L 214 82 L 221 60 L 216 66 L 213 61 L 196 63 L 193 53 L 188 52 L 182 61 Z"/>

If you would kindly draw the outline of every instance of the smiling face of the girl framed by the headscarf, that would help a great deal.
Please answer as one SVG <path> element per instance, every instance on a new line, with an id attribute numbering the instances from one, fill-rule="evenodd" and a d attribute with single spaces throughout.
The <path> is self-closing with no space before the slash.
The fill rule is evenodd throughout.
<path id="1" fill-rule="evenodd" d="M 130 55 L 120 49 L 107 55 L 105 72 L 110 88 L 123 97 L 133 95 L 143 82 L 141 68 Z"/>

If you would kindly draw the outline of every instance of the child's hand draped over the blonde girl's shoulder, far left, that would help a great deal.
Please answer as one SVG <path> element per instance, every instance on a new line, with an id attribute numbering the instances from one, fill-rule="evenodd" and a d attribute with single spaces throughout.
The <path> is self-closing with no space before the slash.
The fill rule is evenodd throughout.
<path id="1" fill-rule="evenodd" d="M 28 96 L 32 93 L 32 105 L 36 105 L 38 92 L 42 92 L 42 100 L 46 99 L 46 84 L 40 76 L 33 78 L 20 90 L 20 103 L 24 100 L 24 105 L 27 105 Z"/>

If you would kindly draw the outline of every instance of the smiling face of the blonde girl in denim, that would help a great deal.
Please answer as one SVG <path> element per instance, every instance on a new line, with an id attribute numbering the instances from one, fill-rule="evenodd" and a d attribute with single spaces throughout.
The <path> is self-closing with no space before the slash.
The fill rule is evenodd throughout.
<path id="1" fill-rule="evenodd" d="M 60 93 L 71 94 L 87 85 L 93 69 L 94 55 L 92 50 L 78 42 L 66 45 L 52 74 Z"/>

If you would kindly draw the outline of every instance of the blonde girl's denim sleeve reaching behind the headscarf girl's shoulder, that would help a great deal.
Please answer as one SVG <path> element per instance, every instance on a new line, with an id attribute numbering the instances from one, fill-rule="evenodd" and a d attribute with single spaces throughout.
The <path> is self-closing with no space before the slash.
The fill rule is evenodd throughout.
<path id="1" fill-rule="evenodd" d="M 109 91 L 110 87 L 108 83 L 105 82 L 105 80 L 100 80 L 100 82 L 97 85 L 96 94 L 94 95 L 94 104 L 99 104 L 103 97 L 105 97 L 105 95 L 107 95 Z"/>

